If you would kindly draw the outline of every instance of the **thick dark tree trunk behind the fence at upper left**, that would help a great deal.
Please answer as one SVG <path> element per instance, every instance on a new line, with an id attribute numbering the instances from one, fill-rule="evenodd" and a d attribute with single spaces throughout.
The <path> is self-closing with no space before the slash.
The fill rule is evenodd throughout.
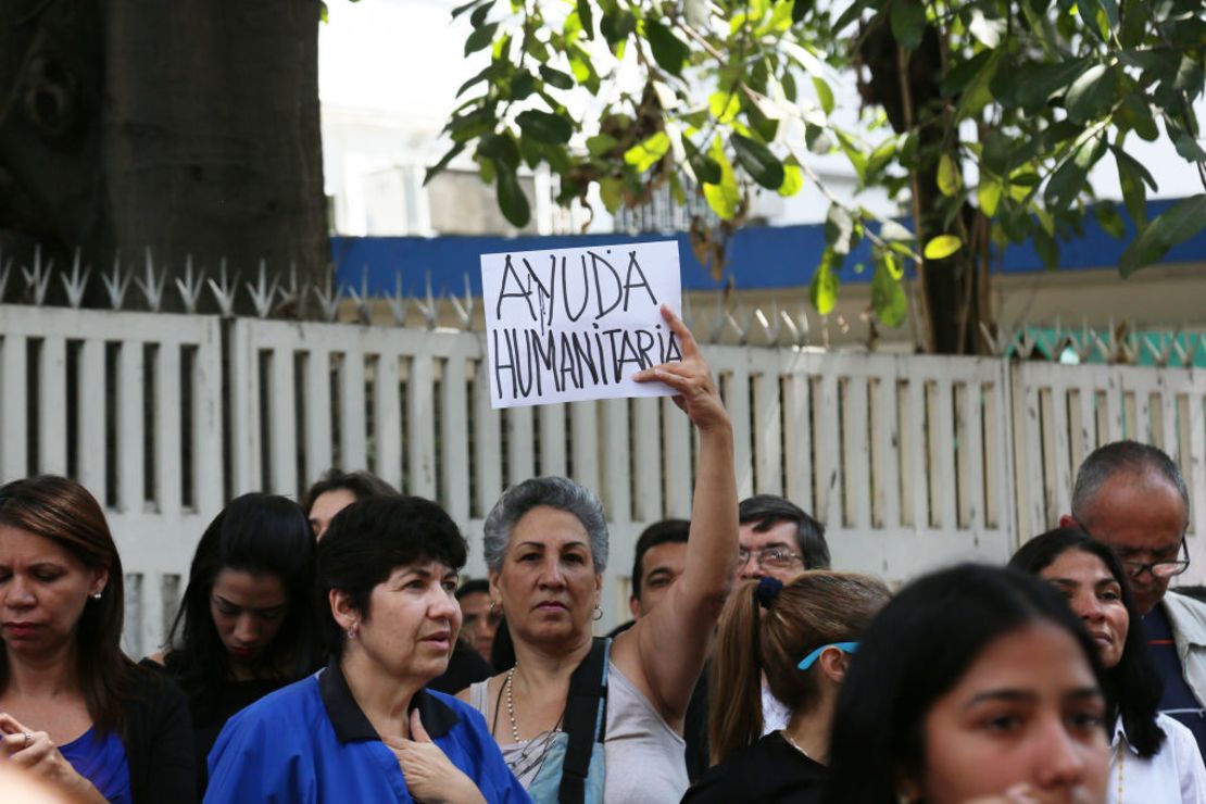
<path id="1" fill-rule="evenodd" d="M 226 259 L 246 280 L 264 259 L 320 277 L 318 13 L 317 0 L 0 0 L 22 20 L 0 31 L 0 98 L 14 99 L 0 106 L 0 245 L 78 247 L 106 272 L 115 253 L 141 271 L 150 248 L 177 276 L 192 256 L 210 275 Z"/>

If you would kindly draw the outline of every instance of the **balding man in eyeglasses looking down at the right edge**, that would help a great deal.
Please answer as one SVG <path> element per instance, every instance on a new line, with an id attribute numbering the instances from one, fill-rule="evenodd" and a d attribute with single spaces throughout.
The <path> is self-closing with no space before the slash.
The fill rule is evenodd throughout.
<path id="1" fill-rule="evenodd" d="M 1099 447 L 1077 473 L 1072 515 L 1060 526 L 1082 528 L 1123 561 L 1164 681 L 1160 711 L 1188 726 L 1206 755 L 1206 604 L 1169 592 L 1171 579 L 1189 569 L 1181 469 L 1136 441 Z"/>

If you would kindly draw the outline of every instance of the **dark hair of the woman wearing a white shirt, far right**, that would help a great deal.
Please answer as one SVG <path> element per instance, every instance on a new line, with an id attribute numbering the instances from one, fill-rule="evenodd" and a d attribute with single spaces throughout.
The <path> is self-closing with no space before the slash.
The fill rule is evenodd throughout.
<path id="1" fill-rule="evenodd" d="M 1083 530 L 1056 528 L 1021 545 L 1009 559 L 1009 567 L 1038 575 L 1069 550 L 1079 550 L 1100 558 L 1122 587 L 1123 605 L 1126 608 L 1126 616 L 1130 617 L 1130 626 L 1126 629 L 1126 640 L 1123 642 L 1122 658 L 1118 664 L 1105 671 L 1106 699 L 1110 702 L 1108 722 L 1122 717 L 1123 727 L 1126 729 L 1126 741 L 1138 756 L 1151 757 L 1164 744 L 1164 732 L 1155 722 L 1157 715 L 1160 714 L 1164 682 L 1148 653 L 1143 617 L 1135 608 L 1135 598 L 1131 597 L 1130 583 L 1118 556 Z"/>

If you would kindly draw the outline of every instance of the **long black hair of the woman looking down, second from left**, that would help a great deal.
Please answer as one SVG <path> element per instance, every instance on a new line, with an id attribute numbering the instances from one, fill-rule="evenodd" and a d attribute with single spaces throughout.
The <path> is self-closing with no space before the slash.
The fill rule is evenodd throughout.
<path id="1" fill-rule="evenodd" d="M 218 685 L 234 677 L 210 612 L 213 581 L 223 569 L 275 575 L 288 597 L 281 628 L 253 669 L 267 677 L 295 681 L 315 668 L 318 644 L 310 605 L 314 556 L 314 532 L 302 509 L 274 494 L 244 494 L 232 500 L 205 529 L 165 657 L 194 711 L 207 706 Z"/>

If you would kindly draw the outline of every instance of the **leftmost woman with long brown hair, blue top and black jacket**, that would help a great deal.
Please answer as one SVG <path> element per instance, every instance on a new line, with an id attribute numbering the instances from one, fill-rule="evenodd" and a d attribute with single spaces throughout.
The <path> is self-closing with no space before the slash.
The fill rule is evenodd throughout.
<path id="1" fill-rule="evenodd" d="M 122 653 L 122 577 L 82 486 L 0 487 L 0 762 L 76 802 L 192 802 L 188 704 Z"/>

